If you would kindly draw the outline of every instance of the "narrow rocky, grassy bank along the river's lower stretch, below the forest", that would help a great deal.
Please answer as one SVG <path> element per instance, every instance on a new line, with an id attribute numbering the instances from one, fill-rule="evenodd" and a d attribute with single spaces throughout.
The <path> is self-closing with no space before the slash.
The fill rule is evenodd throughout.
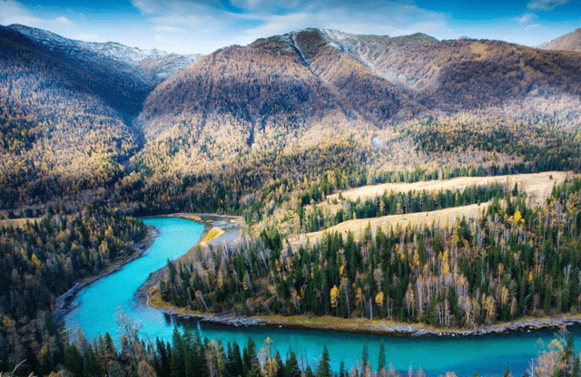
<path id="1" fill-rule="evenodd" d="M 210 324 L 230 326 L 285 327 L 296 330 L 323 330 L 343 333 L 374 333 L 389 336 L 482 336 L 492 333 L 531 332 L 543 328 L 560 328 L 581 324 L 580 315 L 566 314 L 558 317 L 527 317 L 511 323 L 463 328 L 438 328 L 426 324 L 406 324 L 389 320 L 337 318 L 309 315 L 256 315 L 204 314 L 188 308 L 178 308 L 162 301 L 157 286 L 150 286 L 147 304 L 153 309 L 182 319 L 192 319 Z"/>

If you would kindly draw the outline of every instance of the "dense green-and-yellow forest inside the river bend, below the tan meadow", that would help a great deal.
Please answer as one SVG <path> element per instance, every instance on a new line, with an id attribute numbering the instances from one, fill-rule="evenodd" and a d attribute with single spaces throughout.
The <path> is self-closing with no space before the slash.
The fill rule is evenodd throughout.
<path id="1" fill-rule="evenodd" d="M 547 207 L 515 190 L 477 219 L 328 233 L 293 250 L 276 229 L 237 247 L 169 262 L 163 300 L 202 313 L 314 314 L 473 327 L 524 315 L 578 313 L 581 179 Z"/>

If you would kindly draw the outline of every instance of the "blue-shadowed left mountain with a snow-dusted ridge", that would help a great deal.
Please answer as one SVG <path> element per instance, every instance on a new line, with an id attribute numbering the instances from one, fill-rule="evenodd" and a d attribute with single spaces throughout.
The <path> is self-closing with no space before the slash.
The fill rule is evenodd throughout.
<path id="1" fill-rule="evenodd" d="M 143 101 L 196 58 L 0 26 L 2 207 L 119 179 Z"/>

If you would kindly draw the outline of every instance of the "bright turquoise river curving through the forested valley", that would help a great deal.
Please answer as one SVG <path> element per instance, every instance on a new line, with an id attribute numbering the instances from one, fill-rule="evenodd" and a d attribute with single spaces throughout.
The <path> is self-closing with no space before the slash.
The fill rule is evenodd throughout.
<path id="1" fill-rule="evenodd" d="M 428 376 L 456 372 L 458 376 L 501 375 L 509 365 L 515 376 L 522 375 L 528 363 L 538 351 L 538 341 L 550 342 L 555 330 L 538 330 L 532 333 L 512 332 L 462 338 L 448 337 L 399 337 L 330 331 L 291 330 L 271 327 L 233 327 L 200 324 L 192 320 L 174 320 L 172 317 L 151 309 L 134 296 L 149 274 L 165 266 L 167 259 L 182 256 L 202 236 L 203 226 L 183 218 L 146 218 L 145 224 L 157 227 L 160 235 L 155 238 L 146 254 L 123 266 L 121 270 L 85 287 L 72 301 L 72 310 L 65 316 L 65 327 L 80 327 L 91 339 L 109 332 L 118 337 L 115 322 L 119 308 L 135 322 L 142 324 L 141 334 L 154 340 L 156 337 L 171 340 L 174 326 L 189 326 L 200 330 L 202 337 L 228 342 L 245 343 L 251 336 L 258 347 L 267 337 L 272 340 L 272 350 L 279 350 L 284 357 L 289 349 L 303 355 L 313 365 L 327 345 L 331 367 L 339 370 L 342 360 L 346 366 L 356 365 L 361 357 L 363 343 L 367 342 L 369 360 L 376 366 L 381 339 L 386 345 L 386 359 L 399 371 L 407 371 L 411 365 L 422 367 Z M 581 343 L 578 326 L 571 330 L 576 343 Z"/>

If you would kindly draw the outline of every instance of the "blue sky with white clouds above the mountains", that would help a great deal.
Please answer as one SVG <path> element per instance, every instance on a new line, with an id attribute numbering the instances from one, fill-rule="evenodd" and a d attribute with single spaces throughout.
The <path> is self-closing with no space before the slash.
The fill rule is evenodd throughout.
<path id="1" fill-rule="evenodd" d="M 581 0 L 0 0 L 0 24 L 172 53 L 212 53 L 306 27 L 536 46 L 581 27 Z"/>

